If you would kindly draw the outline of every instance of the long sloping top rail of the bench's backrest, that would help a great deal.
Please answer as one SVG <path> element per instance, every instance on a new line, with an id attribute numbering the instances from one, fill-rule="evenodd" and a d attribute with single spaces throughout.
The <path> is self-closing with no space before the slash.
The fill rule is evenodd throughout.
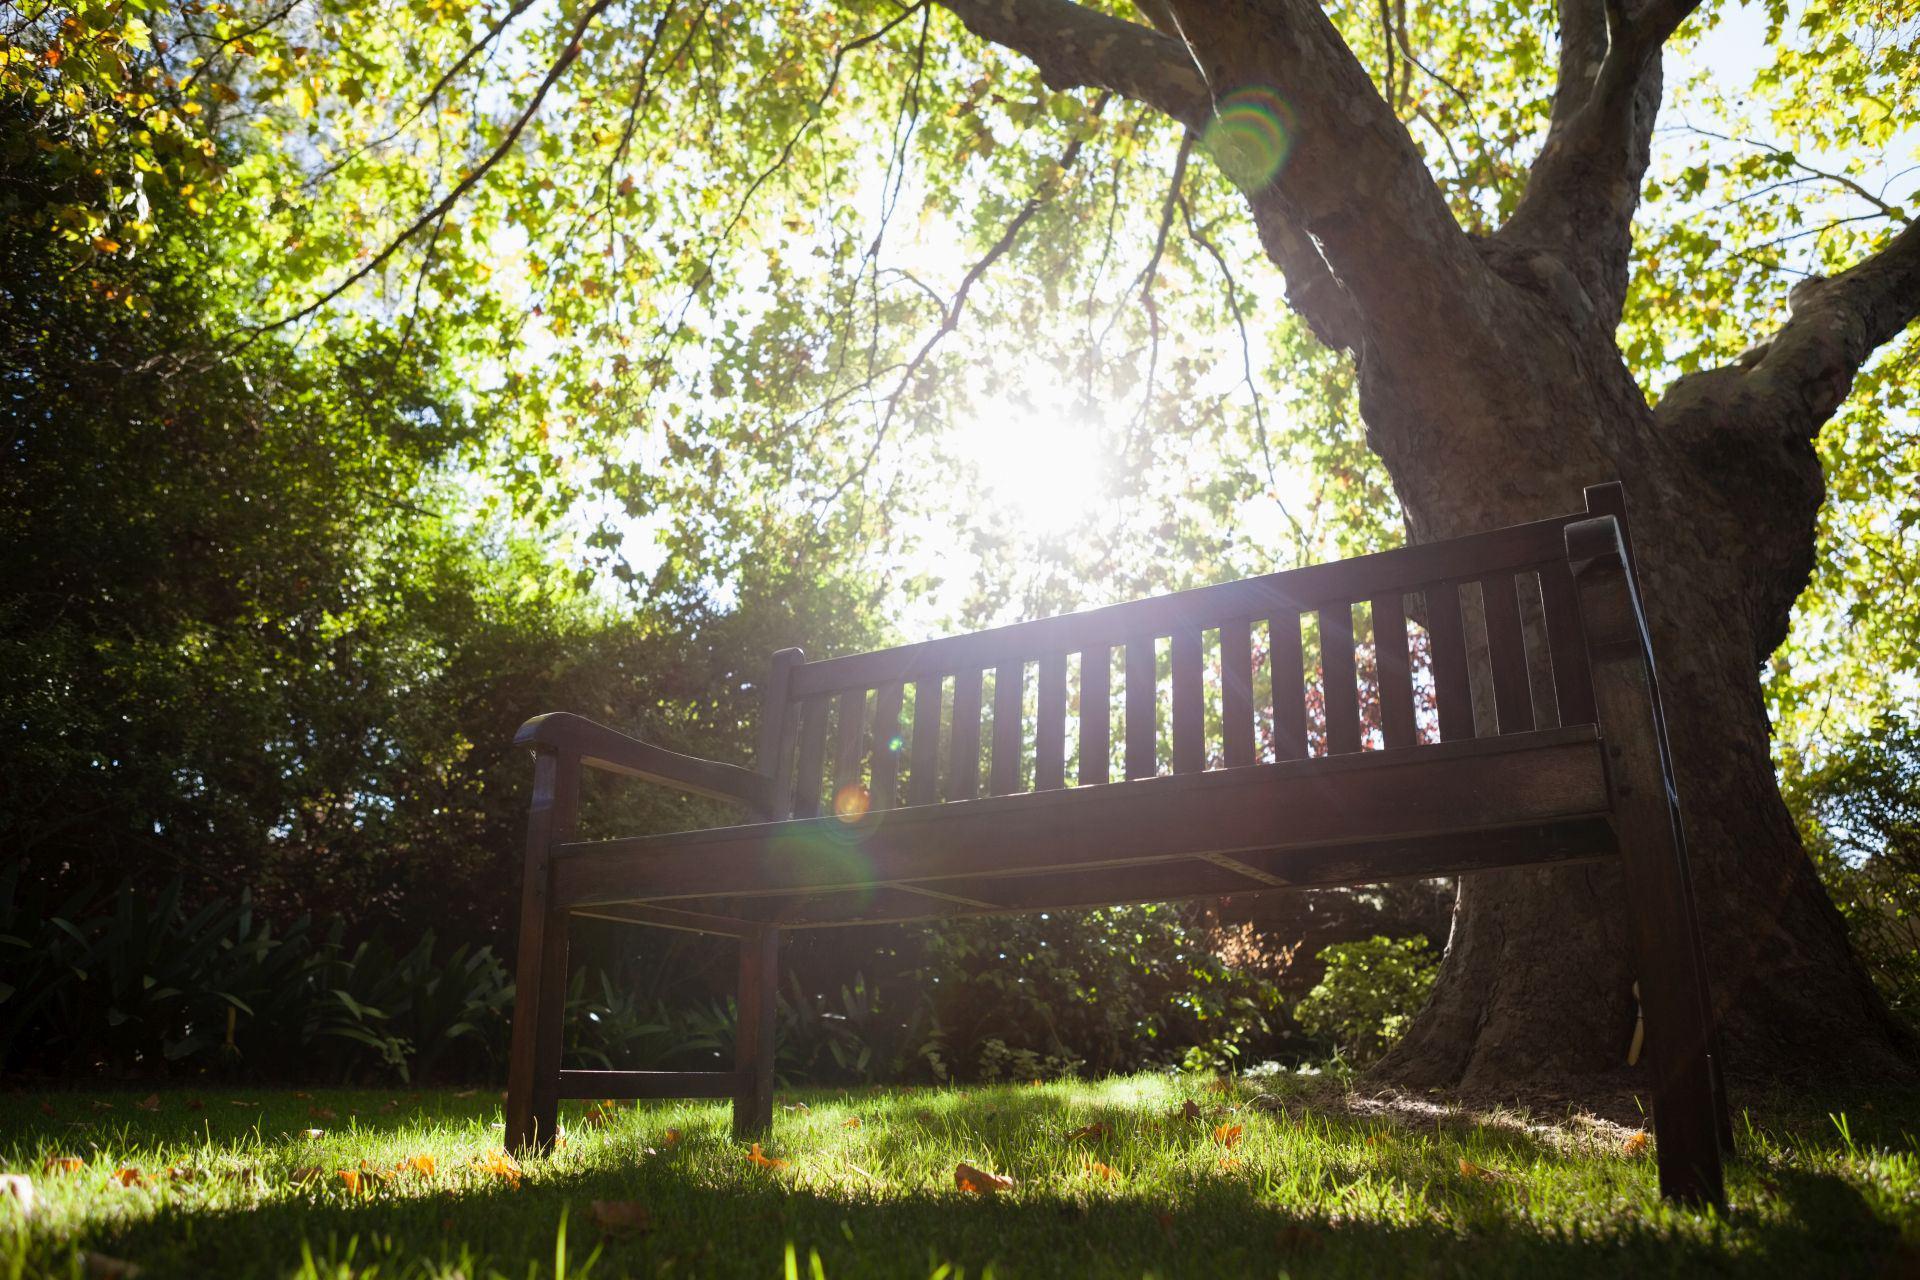
<path id="1" fill-rule="evenodd" d="M 1425 581 L 1524 568 L 1563 557 L 1561 530 L 1576 518 L 1582 516 L 1555 516 L 1334 564 L 1311 564 L 1079 614 L 1037 618 L 972 635 L 808 662 L 793 672 L 795 695 L 872 689 L 889 679 L 920 679 L 925 674 L 970 666 L 989 668 L 1037 652 L 1081 652 L 1092 645 L 1114 645 L 1137 635 L 1173 635 L 1181 628 L 1212 628 L 1231 618 L 1271 618 L 1279 612 L 1409 591 Z"/>

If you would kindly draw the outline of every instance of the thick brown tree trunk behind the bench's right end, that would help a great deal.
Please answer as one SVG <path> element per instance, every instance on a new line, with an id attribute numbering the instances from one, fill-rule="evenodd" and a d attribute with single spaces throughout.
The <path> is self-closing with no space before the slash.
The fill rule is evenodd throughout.
<path id="1" fill-rule="evenodd" d="M 1619 478 L 1645 591 L 1724 1069 L 1910 1077 L 1780 798 L 1759 668 L 1812 566 L 1818 461 L 1751 424 L 1663 424 L 1609 334 L 1517 288 L 1492 351 L 1361 351 L 1369 439 L 1415 541 L 1580 507 Z M 1467 363 L 1463 363 L 1467 361 Z M 1776 443 L 1768 443 L 1768 439 Z M 1576 1094 L 1626 1067 L 1634 973 L 1611 864 L 1465 877 L 1432 1000 L 1377 1075 Z"/>

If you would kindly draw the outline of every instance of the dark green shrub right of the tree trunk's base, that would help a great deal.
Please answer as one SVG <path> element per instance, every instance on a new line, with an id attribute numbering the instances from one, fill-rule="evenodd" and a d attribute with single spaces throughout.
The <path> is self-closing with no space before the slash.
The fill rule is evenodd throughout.
<path id="1" fill-rule="evenodd" d="M 1885 716 L 1811 770 L 1788 802 L 1874 983 L 1920 1027 L 1920 722 Z"/>

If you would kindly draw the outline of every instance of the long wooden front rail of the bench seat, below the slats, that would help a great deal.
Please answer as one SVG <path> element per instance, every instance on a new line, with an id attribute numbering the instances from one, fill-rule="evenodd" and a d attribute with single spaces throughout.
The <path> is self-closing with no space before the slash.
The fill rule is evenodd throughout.
<path id="1" fill-rule="evenodd" d="M 854 823 L 818 818 L 566 844 L 553 877 L 568 906 L 818 892 L 1415 839 L 1605 808 L 1599 741 L 1584 725 L 906 808 Z M 783 839 L 772 842 L 774 833 Z"/>

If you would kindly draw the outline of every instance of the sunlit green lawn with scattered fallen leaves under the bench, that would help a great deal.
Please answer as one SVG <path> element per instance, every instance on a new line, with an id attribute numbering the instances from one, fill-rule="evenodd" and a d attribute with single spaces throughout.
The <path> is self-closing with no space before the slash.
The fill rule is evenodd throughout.
<path id="1" fill-rule="evenodd" d="M 493 1092 L 0 1094 L 36 1194 L 0 1203 L 0 1278 L 1920 1274 L 1920 1098 L 1745 1117 L 1720 1217 L 1661 1203 L 1619 1126 L 1306 1088 L 787 1092 L 783 1167 L 722 1105 L 568 1103 L 518 1176 L 486 1167 Z M 960 1192 L 958 1161 L 1016 1186 Z"/>

